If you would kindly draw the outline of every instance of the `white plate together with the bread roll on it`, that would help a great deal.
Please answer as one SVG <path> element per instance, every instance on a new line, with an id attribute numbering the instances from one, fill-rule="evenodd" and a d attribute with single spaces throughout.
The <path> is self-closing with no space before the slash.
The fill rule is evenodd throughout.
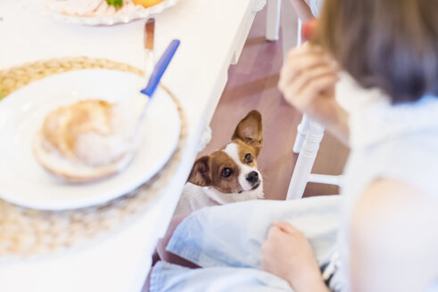
<path id="1" fill-rule="evenodd" d="M 133 73 L 82 69 L 9 94 L 0 101 L 0 197 L 72 209 L 147 182 L 176 150 L 181 121 L 167 91 L 148 101 L 144 86 Z"/>

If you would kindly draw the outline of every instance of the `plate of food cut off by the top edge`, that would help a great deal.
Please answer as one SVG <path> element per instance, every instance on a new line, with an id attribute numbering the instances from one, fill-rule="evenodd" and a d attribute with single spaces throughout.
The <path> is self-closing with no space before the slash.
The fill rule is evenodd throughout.
<path id="1" fill-rule="evenodd" d="M 56 20 L 84 25 L 113 25 L 145 19 L 178 0 L 40 0 Z"/>

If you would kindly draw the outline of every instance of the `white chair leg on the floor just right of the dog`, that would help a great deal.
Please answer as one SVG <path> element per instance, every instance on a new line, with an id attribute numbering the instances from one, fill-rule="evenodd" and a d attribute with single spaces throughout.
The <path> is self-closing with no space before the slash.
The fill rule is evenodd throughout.
<path id="1" fill-rule="evenodd" d="M 302 144 L 302 150 L 293 169 L 291 183 L 287 191 L 286 199 L 301 199 L 304 189 L 309 182 L 310 171 L 317 158 L 319 143 L 324 136 L 324 127 L 310 122 L 306 139 Z"/>

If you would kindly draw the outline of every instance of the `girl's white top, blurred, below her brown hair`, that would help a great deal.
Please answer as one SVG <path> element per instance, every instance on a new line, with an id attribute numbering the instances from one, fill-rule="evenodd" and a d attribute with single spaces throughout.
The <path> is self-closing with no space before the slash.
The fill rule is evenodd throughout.
<path id="1" fill-rule="evenodd" d="M 354 97 L 351 96 L 351 99 Z M 411 184 L 438 199 L 438 97 L 391 105 L 384 98 L 363 103 L 351 111 L 351 153 L 344 170 L 343 223 L 362 191 L 378 178 L 392 178 Z M 335 275 L 335 290 L 348 290 L 349 226 L 340 231 L 342 272 Z M 431 291 L 438 291 L 433 289 Z"/>

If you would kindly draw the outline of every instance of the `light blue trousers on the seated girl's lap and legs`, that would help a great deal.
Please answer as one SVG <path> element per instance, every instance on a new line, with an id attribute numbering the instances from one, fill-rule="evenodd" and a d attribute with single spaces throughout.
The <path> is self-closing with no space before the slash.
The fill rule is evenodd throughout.
<path id="1" fill-rule="evenodd" d="M 156 265 L 151 291 L 234 291 L 233 283 L 236 291 L 283 291 L 284 280 L 260 271 L 261 245 L 271 223 L 289 222 L 301 230 L 322 264 L 335 245 L 340 200 L 252 200 L 196 211 L 178 225 L 167 250 L 204 269 Z M 212 289 L 216 282 L 225 286 Z"/>

